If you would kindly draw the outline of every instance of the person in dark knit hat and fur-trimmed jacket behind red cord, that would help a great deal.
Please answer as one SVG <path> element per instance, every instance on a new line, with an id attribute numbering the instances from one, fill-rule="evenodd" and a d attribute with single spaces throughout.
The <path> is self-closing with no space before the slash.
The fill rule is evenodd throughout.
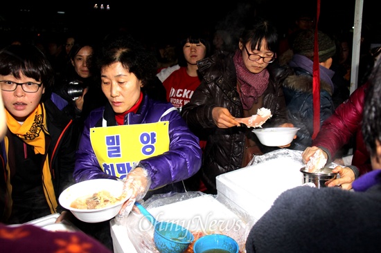
<path id="1" fill-rule="evenodd" d="M 333 104 L 334 84 L 330 71 L 332 57 L 336 46 L 324 32 L 317 32 L 319 43 L 320 67 L 320 124 L 335 111 Z M 283 82 L 283 93 L 287 106 L 288 116 L 295 127 L 300 127 L 296 133 L 297 138 L 290 149 L 305 150 L 312 143 L 313 129 L 313 59 L 314 59 L 314 30 L 303 30 L 296 35 L 292 46 L 294 55 L 290 62 L 284 66 L 290 74 Z"/>

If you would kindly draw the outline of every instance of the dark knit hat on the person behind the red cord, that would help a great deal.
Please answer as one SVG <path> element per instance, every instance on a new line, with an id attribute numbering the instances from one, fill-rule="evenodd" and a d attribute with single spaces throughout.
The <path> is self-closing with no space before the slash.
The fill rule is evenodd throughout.
<path id="1" fill-rule="evenodd" d="M 336 52 L 336 45 L 324 32 L 318 30 L 317 40 L 319 43 L 319 62 L 326 62 L 330 57 L 333 57 Z M 304 55 L 305 57 L 314 60 L 314 30 L 302 30 L 296 35 L 294 44 L 292 44 L 294 54 Z"/>

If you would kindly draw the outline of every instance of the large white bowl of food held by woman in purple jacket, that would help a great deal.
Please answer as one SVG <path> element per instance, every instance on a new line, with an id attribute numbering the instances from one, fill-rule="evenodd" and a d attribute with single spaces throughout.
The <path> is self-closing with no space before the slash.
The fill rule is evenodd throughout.
<path id="1" fill-rule="evenodd" d="M 123 182 L 112 179 L 93 179 L 78 182 L 62 191 L 58 200 L 62 207 L 69 209 L 80 221 L 99 223 L 114 218 L 121 210 L 123 203 L 130 198 L 130 196 L 125 196 L 118 203 L 99 209 L 77 209 L 70 206 L 77 198 L 91 196 L 99 191 L 109 191 L 112 196 L 118 198 L 123 193 Z"/>

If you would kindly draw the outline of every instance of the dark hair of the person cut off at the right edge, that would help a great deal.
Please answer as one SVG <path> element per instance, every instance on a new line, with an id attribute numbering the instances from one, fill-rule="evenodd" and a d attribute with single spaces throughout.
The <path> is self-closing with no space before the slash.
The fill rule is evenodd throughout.
<path id="1" fill-rule="evenodd" d="M 364 115 L 362 119 L 362 135 L 366 148 L 371 154 L 375 152 L 375 141 L 381 142 L 381 58 L 373 66 L 368 79 Z"/>

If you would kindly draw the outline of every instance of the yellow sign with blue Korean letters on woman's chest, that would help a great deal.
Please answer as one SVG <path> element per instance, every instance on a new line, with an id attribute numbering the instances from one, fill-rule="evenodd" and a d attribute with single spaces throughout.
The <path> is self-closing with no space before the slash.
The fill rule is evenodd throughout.
<path id="1" fill-rule="evenodd" d="M 90 129 L 91 145 L 106 174 L 125 178 L 140 160 L 169 150 L 168 121 Z"/>

